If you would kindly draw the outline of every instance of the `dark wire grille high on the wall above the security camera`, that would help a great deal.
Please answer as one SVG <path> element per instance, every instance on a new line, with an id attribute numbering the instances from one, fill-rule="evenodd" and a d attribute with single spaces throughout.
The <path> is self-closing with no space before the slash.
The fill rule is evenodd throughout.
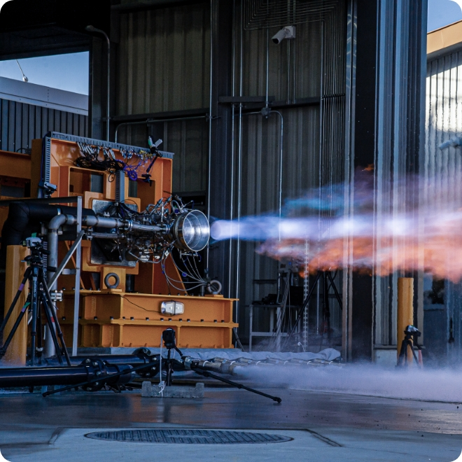
<path id="1" fill-rule="evenodd" d="M 337 7 L 338 0 L 245 0 L 246 30 L 321 21 Z"/>

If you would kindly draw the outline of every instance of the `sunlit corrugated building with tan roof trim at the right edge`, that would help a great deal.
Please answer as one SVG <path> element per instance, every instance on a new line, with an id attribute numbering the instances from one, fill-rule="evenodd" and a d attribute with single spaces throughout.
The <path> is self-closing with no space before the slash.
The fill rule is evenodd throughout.
<path id="1" fill-rule="evenodd" d="M 462 197 L 458 181 L 462 147 L 456 141 L 442 144 L 458 137 L 462 137 L 462 21 L 427 36 L 426 139 L 419 165 L 425 179 L 436 177 L 441 184 L 451 184 L 454 197 Z M 428 356 L 449 362 L 462 359 L 462 284 L 426 277 L 423 290 Z"/>

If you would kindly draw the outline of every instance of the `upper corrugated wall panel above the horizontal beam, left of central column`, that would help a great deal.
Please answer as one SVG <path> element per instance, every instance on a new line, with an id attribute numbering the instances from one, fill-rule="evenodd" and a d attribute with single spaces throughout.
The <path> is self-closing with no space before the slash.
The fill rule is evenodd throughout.
<path id="1" fill-rule="evenodd" d="M 209 3 L 120 15 L 118 114 L 209 106 Z"/>

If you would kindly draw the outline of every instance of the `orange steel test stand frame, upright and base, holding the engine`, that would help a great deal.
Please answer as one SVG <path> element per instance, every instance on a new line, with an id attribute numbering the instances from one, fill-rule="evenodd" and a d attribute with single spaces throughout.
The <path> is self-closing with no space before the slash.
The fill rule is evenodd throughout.
<path id="1" fill-rule="evenodd" d="M 120 151 L 113 150 L 117 159 L 123 160 Z M 57 185 L 52 197 L 81 195 L 83 207 L 91 209 L 94 200 L 116 199 L 116 181 L 111 181 L 108 172 L 99 172 L 76 167 L 73 161 L 80 156 L 75 142 L 51 139 L 50 183 Z M 32 141 L 31 191 L 38 191 L 42 156 L 42 140 Z M 144 167 L 138 174 L 146 173 Z M 30 171 L 29 171 L 30 172 Z M 103 176 L 103 190 L 90 191 L 92 175 Z M 160 197 L 169 197 L 172 191 L 172 159 L 158 158 L 151 170 L 152 186 L 138 181 L 137 197 L 128 196 L 128 180 L 125 181 L 125 200 L 137 204 L 139 210 L 158 202 Z M 69 249 L 71 242 L 60 241 L 59 260 Z M 68 264 L 75 268 L 75 260 Z M 235 300 L 222 295 L 196 297 L 188 295 L 183 283 L 176 283 L 181 290 L 170 294 L 160 265 L 137 263 L 136 267 L 94 265 L 91 262 L 90 241 L 82 243 L 82 276 L 80 278 L 79 346 L 159 346 L 162 330 L 172 327 L 176 331 L 180 347 L 232 348 L 232 304 Z M 176 281 L 181 275 L 172 258 L 165 262 L 167 274 Z M 116 289 L 104 288 L 104 277 L 108 273 L 120 277 Z M 97 290 L 94 274 L 99 273 L 101 283 Z M 125 292 L 125 276 L 134 274 L 134 293 Z M 58 303 L 58 316 L 64 338 L 71 344 L 73 319 L 74 276 L 63 275 L 58 279 L 58 288 L 64 289 L 63 302 Z M 183 302 L 185 311 L 181 315 L 168 316 L 160 312 L 163 301 Z"/>

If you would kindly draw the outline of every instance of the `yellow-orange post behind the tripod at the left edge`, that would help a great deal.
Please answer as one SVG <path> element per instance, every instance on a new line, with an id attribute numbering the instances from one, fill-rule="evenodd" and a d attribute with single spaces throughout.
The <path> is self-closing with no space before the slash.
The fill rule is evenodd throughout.
<path id="1" fill-rule="evenodd" d="M 26 270 L 24 260 L 25 256 L 29 254 L 29 250 L 23 246 L 8 246 L 6 248 L 6 280 L 5 280 L 5 314 L 10 308 L 11 302 L 18 291 L 22 277 Z M 8 334 L 13 328 L 13 324 L 18 318 L 22 307 L 24 306 L 27 298 L 28 284 L 26 283 L 25 290 L 22 291 L 22 294 L 16 304 L 13 313 L 6 323 L 5 331 L 3 332 L 3 340 L 8 337 Z M 27 316 L 22 319 L 18 330 L 11 340 L 10 346 L 6 351 L 5 360 L 8 363 L 14 363 L 18 365 L 26 364 L 26 353 L 27 353 Z"/>

